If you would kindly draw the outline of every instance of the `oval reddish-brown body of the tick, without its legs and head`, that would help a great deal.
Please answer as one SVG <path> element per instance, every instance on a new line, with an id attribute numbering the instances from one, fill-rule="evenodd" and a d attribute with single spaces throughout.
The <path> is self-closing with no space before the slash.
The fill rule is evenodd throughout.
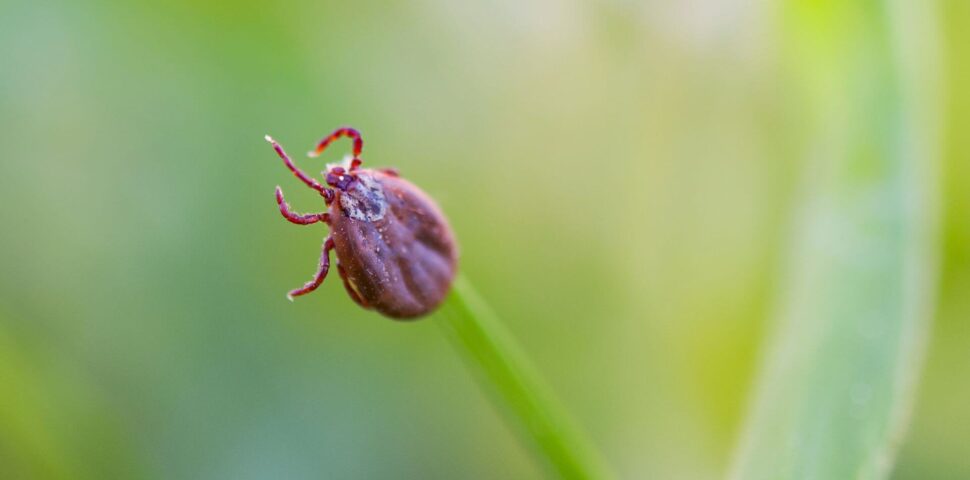
<path id="1" fill-rule="evenodd" d="M 458 253 L 430 198 L 407 180 L 360 169 L 336 200 L 331 228 L 351 296 L 394 318 L 423 315 L 444 300 Z"/>

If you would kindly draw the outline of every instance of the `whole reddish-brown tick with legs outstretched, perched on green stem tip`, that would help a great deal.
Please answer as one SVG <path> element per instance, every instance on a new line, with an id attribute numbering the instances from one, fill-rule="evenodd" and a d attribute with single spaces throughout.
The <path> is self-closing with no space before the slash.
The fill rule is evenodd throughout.
<path id="1" fill-rule="evenodd" d="M 353 128 L 338 128 L 307 155 L 319 156 L 341 137 L 353 140 L 353 155 L 342 164 L 328 164 L 326 185 L 296 167 L 269 135 L 296 178 L 319 192 L 325 212 L 300 214 L 290 210 L 283 190 L 276 203 L 283 218 L 297 225 L 325 223 L 330 227 L 313 279 L 287 297 L 317 289 L 330 270 L 336 252 L 337 272 L 357 304 L 395 319 L 410 319 L 434 310 L 448 293 L 458 263 L 458 250 L 448 221 L 434 200 L 390 168 L 361 168 L 364 141 Z"/>

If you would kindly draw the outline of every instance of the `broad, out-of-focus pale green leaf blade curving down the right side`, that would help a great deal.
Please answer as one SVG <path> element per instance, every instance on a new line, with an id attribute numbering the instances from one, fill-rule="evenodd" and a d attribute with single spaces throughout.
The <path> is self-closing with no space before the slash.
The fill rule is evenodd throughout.
<path id="1" fill-rule="evenodd" d="M 788 11 L 810 169 L 732 478 L 884 478 L 892 467 L 934 296 L 929 8 Z"/>

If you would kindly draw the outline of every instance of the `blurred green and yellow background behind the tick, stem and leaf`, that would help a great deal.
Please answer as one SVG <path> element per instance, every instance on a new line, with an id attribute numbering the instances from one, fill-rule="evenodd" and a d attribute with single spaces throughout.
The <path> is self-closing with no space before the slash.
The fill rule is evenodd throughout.
<path id="1" fill-rule="evenodd" d="M 930 3 L 942 258 L 898 479 L 970 478 L 970 3 Z M 0 478 L 543 475 L 434 318 L 286 301 L 326 231 L 280 218 L 277 184 L 320 199 L 263 135 L 344 124 L 620 477 L 721 477 L 812 167 L 777 10 L 0 0 Z"/>

